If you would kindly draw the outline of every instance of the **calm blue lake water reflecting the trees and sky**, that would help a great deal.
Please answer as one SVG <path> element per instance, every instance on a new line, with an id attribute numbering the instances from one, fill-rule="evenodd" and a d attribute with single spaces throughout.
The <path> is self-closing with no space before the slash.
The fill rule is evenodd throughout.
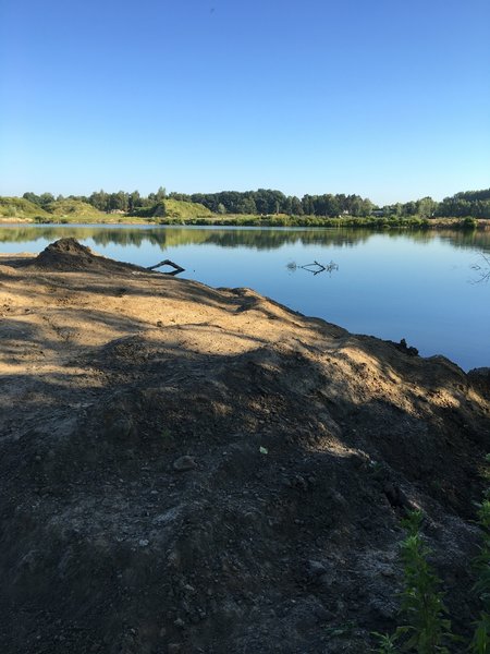
<path id="1" fill-rule="evenodd" d="M 186 269 L 181 277 L 250 287 L 353 332 L 405 338 L 464 370 L 490 365 L 490 282 L 473 269 L 490 254 L 490 232 L 8 226 L 0 251 L 39 252 L 68 235 L 142 266 L 170 258 Z M 314 261 L 339 269 L 299 267 Z"/>

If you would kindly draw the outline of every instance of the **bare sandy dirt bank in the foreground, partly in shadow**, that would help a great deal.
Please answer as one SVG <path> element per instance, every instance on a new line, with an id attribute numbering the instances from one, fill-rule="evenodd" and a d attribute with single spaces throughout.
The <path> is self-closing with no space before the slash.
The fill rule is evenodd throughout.
<path id="1" fill-rule="evenodd" d="M 478 384 L 248 289 L 59 250 L 0 266 L 3 652 L 367 652 L 407 507 L 467 629 Z"/>

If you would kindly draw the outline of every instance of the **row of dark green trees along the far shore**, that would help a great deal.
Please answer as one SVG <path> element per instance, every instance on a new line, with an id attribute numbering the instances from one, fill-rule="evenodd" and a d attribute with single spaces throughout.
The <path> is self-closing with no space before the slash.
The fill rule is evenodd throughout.
<path id="1" fill-rule="evenodd" d="M 335 218 L 347 215 L 367 217 L 371 215 L 384 217 L 414 217 L 419 218 L 490 218 L 490 189 L 483 191 L 465 191 L 437 202 L 431 197 L 422 197 L 407 203 L 396 203 L 382 207 L 376 206 L 370 199 L 359 195 L 344 195 L 324 193 L 322 195 L 306 194 L 302 198 L 295 195 L 285 195 L 281 191 L 258 189 L 257 191 L 222 191 L 220 193 L 169 193 L 160 186 L 156 193 L 147 196 L 138 191 L 127 193 L 118 191 L 107 193 L 95 191 L 88 196 L 69 195 L 54 197 L 52 193 L 24 193 L 23 197 L 36 205 L 47 208 L 54 201 L 76 199 L 85 202 L 100 211 L 122 211 L 133 215 L 164 215 L 164 201 L 167 198 L 199 203 L 215 214 L 245 214 L 245 215 L 273 215 L 285 214 L 289 216 L 324 216 Z"/>

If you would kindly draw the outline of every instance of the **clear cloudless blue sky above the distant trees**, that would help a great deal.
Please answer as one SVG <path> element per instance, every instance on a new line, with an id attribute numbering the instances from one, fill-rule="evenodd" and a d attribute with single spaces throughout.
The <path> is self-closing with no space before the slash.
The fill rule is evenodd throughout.
<path id="1" fill-rule="evenodd" d="M 490 186 L 489 0 L 0 0 L 0 195 Z"/>

